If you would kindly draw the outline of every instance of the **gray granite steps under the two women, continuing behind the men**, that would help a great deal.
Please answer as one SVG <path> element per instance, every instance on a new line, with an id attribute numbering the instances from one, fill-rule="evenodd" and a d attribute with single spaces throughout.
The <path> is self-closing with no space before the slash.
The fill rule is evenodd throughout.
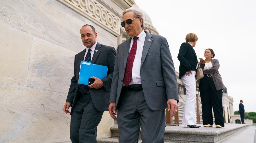
<path id="1" fill-rule="evenodd" d="M 202 125 L 199 125 L 202 126 Z M 224 128 L 184 128 L 183 125 L 166 126 L 165 128 L 165 143 L 187 143 L 187 142 L 218 142 L 226 137 L 237 133 L 249 127 L 247 124 L 230 124 L 226 123 Z M 117 143 L 118 142 L 118 127 L 112 127 L 112 137 L 106 139 L 98 139 L 97 143 Z M 141 131 L 140 135 L 141 136 Z M 140 138 L 141 142 L 141 138 Z M 220 143 L 220 142 L 218 142 Z"/>

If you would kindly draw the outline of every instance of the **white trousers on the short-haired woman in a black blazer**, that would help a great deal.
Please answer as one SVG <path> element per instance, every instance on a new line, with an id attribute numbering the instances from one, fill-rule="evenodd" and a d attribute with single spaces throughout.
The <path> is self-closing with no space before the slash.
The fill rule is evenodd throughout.
<path id="1" fill-rule="evenodd" d="M 196 80 L 195 80 L 195 71 L 191 71 L 192 75 L 184 75 L 181 77 L 182 82 L 186 88 L 187 97 L 185 99 L 184 113 L 182 118 L 182 125 L 195 125 L 196 121 Z"/>

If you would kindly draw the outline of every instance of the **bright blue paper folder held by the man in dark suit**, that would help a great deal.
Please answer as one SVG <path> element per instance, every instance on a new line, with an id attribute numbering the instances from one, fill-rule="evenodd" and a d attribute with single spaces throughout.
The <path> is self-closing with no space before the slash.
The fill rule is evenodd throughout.
<path id="1" fill-rule="evenodd" d="M 88 85 L 88 79 L 92 76 L 102 79 L 107 76 L 108 67 L 92 64 L 87 61 L 81 61 L 79 72 L 79 84 Z"/>

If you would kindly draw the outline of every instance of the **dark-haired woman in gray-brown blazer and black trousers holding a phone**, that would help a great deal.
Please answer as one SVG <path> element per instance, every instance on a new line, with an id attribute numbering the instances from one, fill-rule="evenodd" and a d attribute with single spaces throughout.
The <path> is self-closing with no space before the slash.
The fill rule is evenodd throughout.
<path id="1" fill-rule="evenodd" d="M 204 77 L 199 80 L 199 91 L 202 101 L 203 125 L 212 127 L 212 108 L 215 118 L 216 128 L 224 127 L 223 108 L 222 108 L 222 89 L 223 83 L 218 71 L 220 64 L 212 49 L 205 50 L 205 60 L 200 60 Z"/>

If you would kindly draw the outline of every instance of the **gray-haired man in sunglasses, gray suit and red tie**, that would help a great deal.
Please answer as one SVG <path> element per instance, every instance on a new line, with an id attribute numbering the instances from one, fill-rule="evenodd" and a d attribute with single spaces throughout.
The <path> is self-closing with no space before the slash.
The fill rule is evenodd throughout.
<path id="1" fill-rule="evenodd" d="M 119 143 L 163 143 L 165 109 L 171 116 L 177 111 L 178 87 L 167 40 L 143 31 L 143 13 L 123 12 L 121 25 L 131 38 L 117 47 L 110 116 L 117 124 Z"/>

